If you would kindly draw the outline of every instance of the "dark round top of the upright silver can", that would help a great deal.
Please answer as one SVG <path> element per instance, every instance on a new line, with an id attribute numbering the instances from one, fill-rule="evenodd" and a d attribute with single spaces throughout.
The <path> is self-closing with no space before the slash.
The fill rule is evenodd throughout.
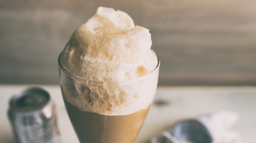
<path id="1" fill-rule="evenodd" d="M 47 91 L 31 87 L 14 96 L 10 101 L 10 108 L 18 112 L 32 112 L 42 109 L 49 101 Z"/>

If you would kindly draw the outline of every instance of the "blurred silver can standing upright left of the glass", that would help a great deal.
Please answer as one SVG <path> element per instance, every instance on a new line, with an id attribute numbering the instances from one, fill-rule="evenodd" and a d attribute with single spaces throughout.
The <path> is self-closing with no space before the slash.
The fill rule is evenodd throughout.
<path id="1" fill-rule="evenodd" d="M 13 96 L 8 117 L 17 143 L 59 143 L 56 107 L 47 91 L 32 87 Z"/>

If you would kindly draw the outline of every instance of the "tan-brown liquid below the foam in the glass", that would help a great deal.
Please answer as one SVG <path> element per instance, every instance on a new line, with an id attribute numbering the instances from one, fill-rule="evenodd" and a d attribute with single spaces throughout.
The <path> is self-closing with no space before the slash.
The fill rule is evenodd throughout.
<path id="1" fill-rule="evenodd" d="M 129 115 L 105 116 L 64 102 L 81 143 L 133 143 L 149 110 L 148 107 Z"/>

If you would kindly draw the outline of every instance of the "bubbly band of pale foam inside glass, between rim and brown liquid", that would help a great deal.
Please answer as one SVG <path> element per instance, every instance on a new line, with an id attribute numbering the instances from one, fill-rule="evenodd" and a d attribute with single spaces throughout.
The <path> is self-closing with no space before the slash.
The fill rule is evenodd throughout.
<path id="1" fill-rule="evenodd" d="M 158 70 L 127 82 L 74 80 L 61 72 L 60 83 L 64 100 L 82 111 L 109 116 L 129 115 L 148 108 L 152 103 Z"/>

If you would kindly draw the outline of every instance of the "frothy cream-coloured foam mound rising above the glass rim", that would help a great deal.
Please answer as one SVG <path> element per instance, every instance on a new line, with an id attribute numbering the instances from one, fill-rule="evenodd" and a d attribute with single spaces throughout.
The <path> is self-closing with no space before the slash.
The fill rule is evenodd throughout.
<path id="1" fill-rule="evenodd" d="M 96 81 L 126 81 L 157 65 L 149 30 L 135 26 L 125 12 L 99 7 L 78 27 L 63 50 L 61 64 L 76 76 Z"/>

